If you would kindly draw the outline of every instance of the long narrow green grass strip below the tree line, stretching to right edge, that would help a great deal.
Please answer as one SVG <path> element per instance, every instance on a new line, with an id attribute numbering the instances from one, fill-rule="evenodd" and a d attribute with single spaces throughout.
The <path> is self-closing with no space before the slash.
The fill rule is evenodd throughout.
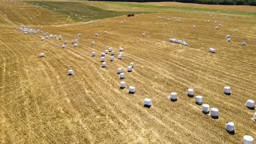
<path id="1" fill-rule="evenodd" d="M 182 9 L 182 10 L 199 10 L 199 11 L 213 11 L 213 12 L 220 11 L 222 13 L 230 13 L 230 14 L 256 15 L 255 12 L 248 12 L 248 11 L 218 10 L 218 9 L 204 9 L 204 8 L 191 8 L 191 7 L 174 7 L 174 6 L 149 5 L 149 4 L 139 4 L 139 3 L 122 3 L 122 2 L 106 2 L 106 3 L 123 5 L 126 7 L 148 8 L 148 9 Z"/>

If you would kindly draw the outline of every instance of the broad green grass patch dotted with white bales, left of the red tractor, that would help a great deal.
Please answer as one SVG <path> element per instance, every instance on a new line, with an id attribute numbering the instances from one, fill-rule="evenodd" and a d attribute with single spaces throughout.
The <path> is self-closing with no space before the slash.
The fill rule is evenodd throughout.
<path id="1" fill-rule="evenodd" d="M 70 17 L 73 21 L 91 21 L 106 19 L 109 17 L 129 14 L 129 11 L 113 11 L 92 7 L 79 2 L 27 2 L 40 5 L 43 8 L 56 11 L 56 13 Z M 141 14 L 144 12 L 131 12 Z"/>

